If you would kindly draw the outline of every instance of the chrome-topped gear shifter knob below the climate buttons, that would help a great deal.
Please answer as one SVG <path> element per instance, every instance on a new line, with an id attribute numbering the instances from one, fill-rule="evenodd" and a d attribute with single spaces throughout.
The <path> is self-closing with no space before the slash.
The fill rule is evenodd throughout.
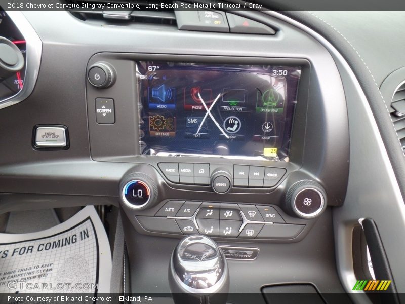
<path id="1" fill-rule="evenodd" d="M 222 250 L 206 236 L 185 237 L 172 253 L 169 285 L 175 304 L 225 304 L 229 273 Z"/>

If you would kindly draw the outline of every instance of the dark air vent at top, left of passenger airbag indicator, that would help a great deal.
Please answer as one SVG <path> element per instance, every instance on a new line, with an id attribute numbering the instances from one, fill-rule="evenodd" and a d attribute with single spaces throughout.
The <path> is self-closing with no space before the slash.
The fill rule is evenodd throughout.
<path id="1" fill-rule="evenodd" d="M 172 9 L 153 9 L 148 11 L 146 2 L 124 1 L 124 0 L 65 0 L 66 4 L 74 5 L 77 8 L 68 11 L 76 18 L 88 20 L 104 20 L 121 24 L 128 23 L 154 23 L 176 25 L 176 16 Z M 113 8 L 107 8 L 107 3 Z M 160 7 L 161 1 L 148 0 L 149 7 Z M 159 5 L 158 5 L 159 4 Z M 137 9 L 132 9 L 138 5 Z M 158 5 L 158 6 L 157 6 Z"/>

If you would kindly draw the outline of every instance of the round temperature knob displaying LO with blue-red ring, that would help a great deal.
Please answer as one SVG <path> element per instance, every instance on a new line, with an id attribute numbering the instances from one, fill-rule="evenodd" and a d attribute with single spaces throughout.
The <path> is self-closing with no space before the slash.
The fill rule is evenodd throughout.
<path id="1" fill-rule="evenodd" d="M 144 173 L 128 174 L 121 181 L 119 188 L 121 201 L 131 209 L 142 210 L 155 204 L 157 185 Z"/>

